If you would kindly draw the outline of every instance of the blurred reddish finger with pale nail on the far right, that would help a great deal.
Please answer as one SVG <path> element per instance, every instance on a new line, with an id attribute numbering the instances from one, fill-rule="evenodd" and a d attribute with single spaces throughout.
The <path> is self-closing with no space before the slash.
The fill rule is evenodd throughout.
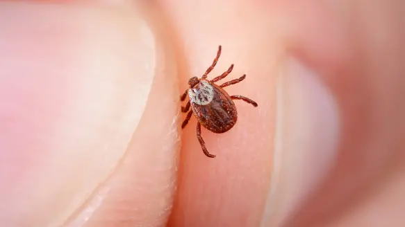
<path id="1" fill-rule="evenodd" d="M 279 8 L 290 19 L 287 48 L 294 60 L 286 64 L 280 169 L 263 226 L 324 226 L 342 219 L 353 211 L 349 207 L 370 206 L 367 199 L 388 194 L 367 189 L 383 184 L 391 190 L 381 172 L 397 175 L 395 166 L 404 161 L 398 98 L 404 93 L 404 47 L 395 4 L 341 6 L 307 1 Z M 381 211 L 390 209 L 380 204 Z M 363 218 L 337 222 L 370 226 L 370 214 Z"/>

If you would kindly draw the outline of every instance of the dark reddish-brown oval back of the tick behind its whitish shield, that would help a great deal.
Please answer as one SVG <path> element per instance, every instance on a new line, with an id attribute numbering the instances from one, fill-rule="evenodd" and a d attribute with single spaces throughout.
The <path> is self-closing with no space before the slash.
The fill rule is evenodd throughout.
<path id="1" fill-rule="evenodd" d="M 202 81 L 202 80 L 200 80 Z M 206 129 L 220 134 L 229 131 L 238 120 L 238 112 L 236 111 L 235 103 L 229 97 L 228 93 L 217 84 L 204 80 L 213 86 L 213 100 L 207 105 L 198 105 L 190 100 L 192 112 L 197 120 Z M 194 88 L 197 91 L 201 89 L 201 82 Z"/>

